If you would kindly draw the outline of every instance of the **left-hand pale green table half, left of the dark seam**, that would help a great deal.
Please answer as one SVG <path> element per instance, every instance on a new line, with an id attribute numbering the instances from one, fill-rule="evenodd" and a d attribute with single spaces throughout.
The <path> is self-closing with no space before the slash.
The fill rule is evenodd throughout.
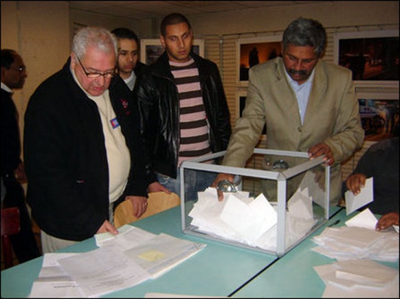
<path id="1" fill-rule="evenodd" d="M 185 235 L 181 230 L 180 206 L 134 222 L 133 225 L 156 234 L 164 232 L 181 239 L 205 243 L 207 246 L 195 256 L 155 280 L 146 280 L 140 285 L 115 291 L 104 297 L 143 298 L 149 292 L 228 296 L 278 259 L 275 255 L 256 250 Z M 96 249 L 96 241 L 92 237 L 63 248 L 59 252 L 87 252 L 93 249 Z M 28 296 L 32 283 L 41 270 L 42 261 L 43 257 L 39 257 L 3 270 L 1 272 L 1 297 L 23 298 Z"/>

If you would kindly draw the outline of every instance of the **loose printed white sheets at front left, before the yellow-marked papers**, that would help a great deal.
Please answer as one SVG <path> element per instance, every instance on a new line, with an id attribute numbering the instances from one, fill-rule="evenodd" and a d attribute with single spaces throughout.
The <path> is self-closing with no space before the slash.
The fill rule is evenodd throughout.
<path id="1" fill-rule="evenodd" d="M 115 246 L 80 254 L 45 254 L 30 298 L 98 297 L 151 278 Z"/>

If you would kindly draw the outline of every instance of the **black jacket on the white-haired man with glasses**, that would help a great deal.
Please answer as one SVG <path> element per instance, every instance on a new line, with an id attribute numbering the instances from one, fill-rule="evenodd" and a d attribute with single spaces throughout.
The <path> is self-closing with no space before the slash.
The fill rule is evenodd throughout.
<path id="1" fill-rule="evenodd" d="M 27 105 L 27 202 L 47 234 L 82 241 L 109 218 L 109 168 L 97 105 L 76 84 L 69 64 L 38 86 Z M 109 94 L 131 152 L 124 195 L 147 196 L 137 106 L 119 76 Z"/>

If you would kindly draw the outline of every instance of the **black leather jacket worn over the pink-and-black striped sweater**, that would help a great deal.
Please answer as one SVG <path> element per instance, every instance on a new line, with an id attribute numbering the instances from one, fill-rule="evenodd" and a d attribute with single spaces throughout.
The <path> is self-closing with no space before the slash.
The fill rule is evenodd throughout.
<path id="1" fill-rule="evenodd" d="M 199 69 L 212 152 L 226 150 L 232 132 L 230 112 L 219 70 L 214 62 L 191 53 Z M 146 67 L 134 90 L 139 105 L 145 152 L 149 167 L 177 177 L 179 154 L 179 97 L 166 52 Z"/>

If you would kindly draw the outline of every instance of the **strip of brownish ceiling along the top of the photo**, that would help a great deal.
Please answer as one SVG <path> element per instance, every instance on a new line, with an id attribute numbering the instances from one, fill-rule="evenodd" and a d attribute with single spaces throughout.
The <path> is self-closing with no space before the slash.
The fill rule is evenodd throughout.
<path id="1" fill-rule="evenodd" d="M 186 16 L 323 1 L 69 1 L 71 10 L 131 20 L 162 19 L 171 12 Z"/>

